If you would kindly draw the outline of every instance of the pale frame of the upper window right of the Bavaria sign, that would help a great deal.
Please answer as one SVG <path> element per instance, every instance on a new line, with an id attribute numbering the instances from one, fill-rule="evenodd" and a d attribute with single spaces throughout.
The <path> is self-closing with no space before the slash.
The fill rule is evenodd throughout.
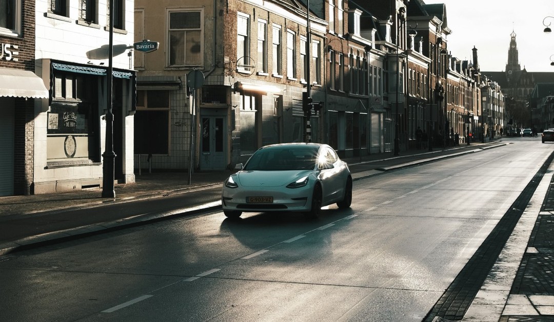
<path id="1" fill-rule="evenodd" d="M 183 12 L 198 12 L 199 13 L 199 16 L 200 16 L 200 22 L 198 24 L 198 28 L 174 28 L 174 29 L 171 29 L 171 14 L 172 13 L 183 13 Z M 202 7 L 191 7 L 191 8 L 167 8 L 166 9 L 166 39 L 167 39 L 167 42 L 166 42 L 166 68 L 186 68 L 186 67 L 189 67 L 189 66 L 194 66 L 194 67 L 199 67 L 199 66 L 203 66 L 203 63 L 204 63 L 204 8 Z M 171 54 L 172 54 L 172 50 L 171 50 L 171 46 L 172 46 L 172 42 L 171 42 L 171 32 L 172 31 L 197 31 L 199 30 L 200 31 L 200 35 L 199 35 L 199 39 L 200 39 L 200 57 L 199 57 L 199 62 L 197 64 L 187 64 L 187 56 L 186 56 L 186 49 L 183 49 L 185 50 L 184 54 L 184 59 L 183 59 L 183 64 L 171 64 Z M 186 48 L 186 33 L 185 33 L 185 43 L 184 43 L 184 46 Z"/>

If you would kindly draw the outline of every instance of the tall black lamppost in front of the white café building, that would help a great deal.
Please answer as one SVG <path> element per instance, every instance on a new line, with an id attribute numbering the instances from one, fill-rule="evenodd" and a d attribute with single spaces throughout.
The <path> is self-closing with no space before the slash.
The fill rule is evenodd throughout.
<path id="1" fill-rule="evenodd" d="M 114 2 L 109 0 L 110 4 L 110 43 L 108 47 L 108 63 L 107 63 L 107 112 L 106 112 L 106 148 L 102 157 L 102 198 L 115 198 L 114 190 L 114 168 L 115 168 L 115 153 L 114 153 L 114 114 L 112 113 L 112 74 L 114 71 L 113 56 L 114 56 Z"/>

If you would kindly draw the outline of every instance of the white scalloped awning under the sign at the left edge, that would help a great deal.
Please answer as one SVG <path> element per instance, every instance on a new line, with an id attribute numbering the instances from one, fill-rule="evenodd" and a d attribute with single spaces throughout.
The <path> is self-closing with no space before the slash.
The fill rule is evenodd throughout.
<path id="1" fill-rule="evenodd" d="M 48 90 L 32 71 L 0 67 L 0 96 L 48 98 Z"/>

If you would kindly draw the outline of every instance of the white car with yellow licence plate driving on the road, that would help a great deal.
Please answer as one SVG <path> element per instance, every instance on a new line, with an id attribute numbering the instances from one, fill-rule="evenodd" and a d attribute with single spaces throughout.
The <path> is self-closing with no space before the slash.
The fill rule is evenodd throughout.
<path id="1" fill-rule="evenodd" d="M 330 146 L 318 143 L 272 144 L 258 149 L 223 183 L 225 216 L 243 212 L 299 211 L 319 216 L 322 206 L 350 207 L 352 176 Z"/>

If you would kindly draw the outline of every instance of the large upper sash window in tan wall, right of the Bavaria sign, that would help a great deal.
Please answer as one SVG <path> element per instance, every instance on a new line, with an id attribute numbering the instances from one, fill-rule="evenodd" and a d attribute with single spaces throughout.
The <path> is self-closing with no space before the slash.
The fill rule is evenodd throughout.
<path id="1" fill-rule="evenodd" d="M 202 64 L 202 10 L 168 11 L 169 66 Z"/>

